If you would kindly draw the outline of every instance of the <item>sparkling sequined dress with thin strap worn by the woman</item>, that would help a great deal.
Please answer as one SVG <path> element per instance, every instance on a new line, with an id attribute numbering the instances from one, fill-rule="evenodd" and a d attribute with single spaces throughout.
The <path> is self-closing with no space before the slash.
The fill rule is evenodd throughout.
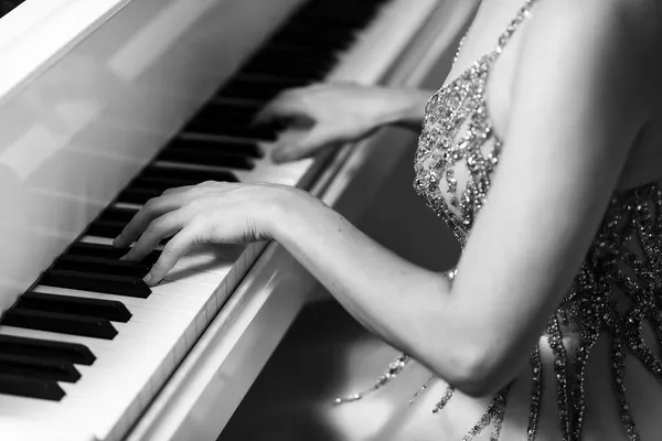
<path id="1" fill-rule="evenodd" d="M 496 47 L 437 90 L 426 106 L 415 158 L 414 187 L 455 233 L 462 247 L 485 202 L 491 173 L 499 164 L 502 148 L 505 148 L 487 111 L 485 90 L 490 69 L 535 2 L 526 1 L 500 36 Z M 658 183 L 613 195 L 569 292 L 542 336 L 552 351 L 554 362 L 551 366 L 543 366 L 540 344 L 531 354 L 532 392 L 526 434 L 522 439 L 536 439 L 542 394 L 556 389 L 562 439 L 581 440 L 587 361 L 598 337 L 605 334 L 609 336 L 612 392 L 620 411 L 620 416 L 613 418 L 622 422 L 629 440 L 640 439 L 626 391 L 626 357 L 636 357 L 648 372 L 662 379 L 662 361 L 642 335 L 642 324 L 648 322 L 656 340 L 654 344 L 662 347 L 659 312 L 662 290 L 658 288 L 662 283 L 662 222 L 658 220 L 661 215 L 662 189 Z M 455 272 L 449 271 L 448 276 L 452 279 Z M 619 297 L 629 299 L 629 308 L 624 311 L 618 305 Z M 574 354 L 569 354 L 563 344 L 568 326 L 578 330 Z M 410 358 L 402 354 L 372 388 L 339 398 L 337 402 L 357 400 L 381 388 L 409 362 Z M 543 388 L 543 367 L 554 370 L 555 388 Z M 426 387 L 427 384 L 419 392 Z M 491 440 L 500 439 L 510 387 L 505 386 L 495 394 L 463 440 L 471 440 L 488 428 Z M 452 386 L 448 386 L 433 412 L 441 411 L 453 394 Z"/>

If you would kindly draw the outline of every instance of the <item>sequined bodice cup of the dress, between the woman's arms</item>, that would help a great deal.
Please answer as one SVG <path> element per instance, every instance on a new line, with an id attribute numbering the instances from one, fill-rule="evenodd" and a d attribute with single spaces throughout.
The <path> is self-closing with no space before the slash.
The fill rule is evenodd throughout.
<path id="1" fill-rule="evenodd" d="M 414 162 L 414 189 L 462 246 L 501 153 L 484 96 L 496 56 L 484 55 L 430 97 Z"/>

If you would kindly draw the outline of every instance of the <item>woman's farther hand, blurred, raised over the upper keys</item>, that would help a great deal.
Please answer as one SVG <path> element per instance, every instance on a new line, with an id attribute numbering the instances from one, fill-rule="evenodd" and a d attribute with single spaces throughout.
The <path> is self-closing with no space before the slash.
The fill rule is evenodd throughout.
<path id="1" fill-rule="evenodd" d="M 397 120 L 407 103 L 403 89 L 314 84 L 279 94 L 260 110 L 256 123 L 286 121 L 268 149 L 275 162 L 287 162 L 310 157 L 325 146 L 362 139 Z"/>

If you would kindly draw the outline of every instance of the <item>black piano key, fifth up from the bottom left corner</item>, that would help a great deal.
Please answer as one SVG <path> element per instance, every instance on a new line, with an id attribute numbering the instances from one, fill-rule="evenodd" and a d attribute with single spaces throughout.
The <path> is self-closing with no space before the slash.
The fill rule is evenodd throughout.
<path id="1" fill-rule="evenodd" d="M 25 310 L 100 318 L 122 323 L 128 322 L 131 318 L 127 306 L 115 300 L 44 294 L 41 292 L 25 292 L 19 298 L 17 306 Z"/>

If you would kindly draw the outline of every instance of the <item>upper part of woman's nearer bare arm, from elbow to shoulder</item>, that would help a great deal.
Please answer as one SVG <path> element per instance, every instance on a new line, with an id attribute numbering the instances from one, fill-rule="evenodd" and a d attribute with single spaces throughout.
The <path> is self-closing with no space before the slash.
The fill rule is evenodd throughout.
<path id="1" fill-rule="evenodd" d="M 523 29 L 503 152 L 449 311 L 471 318 L 458 331 L 490 384 L 510 379 L 567 292 L 645 119 L 629 37 L 602 1 L 579 2 L 590 21 L 577 2 L 541 2 Z"/>

